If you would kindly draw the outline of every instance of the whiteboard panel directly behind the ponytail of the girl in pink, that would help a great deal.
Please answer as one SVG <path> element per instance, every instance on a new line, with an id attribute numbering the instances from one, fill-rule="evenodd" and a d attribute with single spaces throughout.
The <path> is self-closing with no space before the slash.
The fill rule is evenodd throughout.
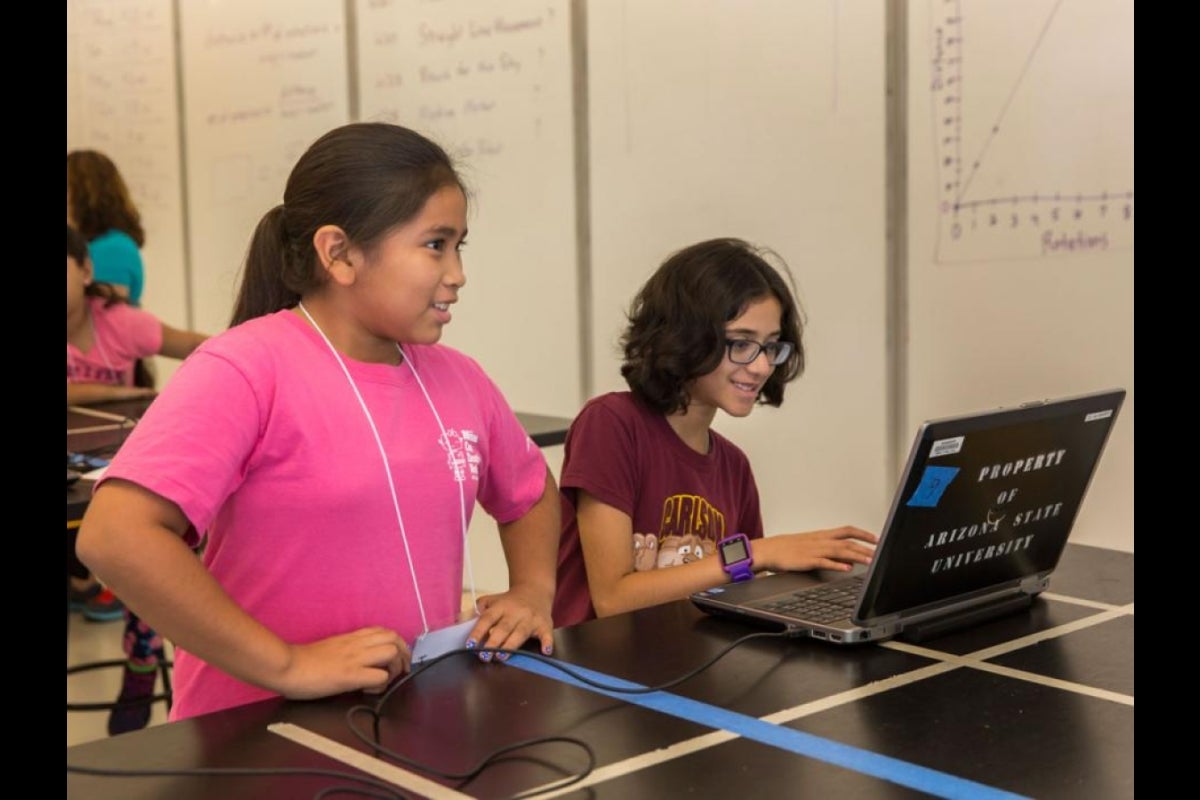
<path id="1" fill-rule="evenodd" d="M 250 236 L 300 155 L 349 121 L 341 0 L 179 4 L 191 301 L 229 325 Z"/>

